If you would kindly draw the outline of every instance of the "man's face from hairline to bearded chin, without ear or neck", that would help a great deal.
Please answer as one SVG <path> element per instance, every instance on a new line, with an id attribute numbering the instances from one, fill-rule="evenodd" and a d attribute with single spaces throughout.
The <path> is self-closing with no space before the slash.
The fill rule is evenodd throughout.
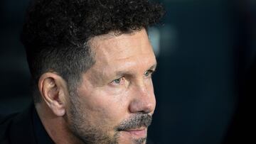
<path id="1" fill-rule="evenodd" d="M 70 129 L 85 143 L 146 143 L 156 100 L 156 58 L 146 31 L 90 40 L 95 65 L 70 92 Z"/>

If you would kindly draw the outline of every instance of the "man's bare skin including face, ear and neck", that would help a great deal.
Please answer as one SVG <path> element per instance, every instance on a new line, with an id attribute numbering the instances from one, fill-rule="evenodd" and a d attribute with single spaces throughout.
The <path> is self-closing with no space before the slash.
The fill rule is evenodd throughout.
<path id="1" fill-rule="evenodd" d="M 146 123 L 156 106 L 156 58 L 146 31 L 96 36 L 90 47 L 96 62 L 75 92 L 55 72 L 39 79 L 43 126 L 55 143 L 146 143 L 150 122 L 138 121 Z"/>

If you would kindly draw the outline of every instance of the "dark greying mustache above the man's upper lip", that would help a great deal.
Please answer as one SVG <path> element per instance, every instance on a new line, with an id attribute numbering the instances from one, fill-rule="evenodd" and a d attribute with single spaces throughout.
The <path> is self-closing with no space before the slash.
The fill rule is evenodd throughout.
<path id="1" fill-rule="evenodd" d="M 135 116 L 132 116 L 132 118 L 129 118 L 125 121 L 122 121 L 119 126 L 117 126 L 117 131 L 126 131 L 129 129 L 134 128 L 141 128 L 141 127 L 149 127 L 152 121 L 152 116 L 149 114 L 137 114 Z"/>

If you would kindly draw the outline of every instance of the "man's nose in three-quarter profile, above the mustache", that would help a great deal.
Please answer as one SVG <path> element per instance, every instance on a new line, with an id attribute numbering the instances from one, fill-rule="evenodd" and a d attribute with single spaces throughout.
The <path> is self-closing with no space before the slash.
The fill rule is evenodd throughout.
<path id="1" fill-rule="evenodd" d="M 151 113 L 156 107 L 156 99 L 154 96 L 154 88 L 152 84 L 137 85 L 133 90 L 133 99 L 129 104 L 131 113 Z"/>

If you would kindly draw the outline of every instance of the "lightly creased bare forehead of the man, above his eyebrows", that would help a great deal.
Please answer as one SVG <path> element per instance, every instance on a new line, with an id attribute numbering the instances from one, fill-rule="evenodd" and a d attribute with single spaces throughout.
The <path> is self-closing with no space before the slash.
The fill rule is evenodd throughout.
<path id="1" fill-rule="evenodd" d="M 122 35 L 108 33 L 96 36 L 90 40 L 90 46 L 95 52 L 96 65 L 107 65 L 114 61 L 131 62 L 138 58 L 154 61 L 154 52 L 144 29 Z"/>

